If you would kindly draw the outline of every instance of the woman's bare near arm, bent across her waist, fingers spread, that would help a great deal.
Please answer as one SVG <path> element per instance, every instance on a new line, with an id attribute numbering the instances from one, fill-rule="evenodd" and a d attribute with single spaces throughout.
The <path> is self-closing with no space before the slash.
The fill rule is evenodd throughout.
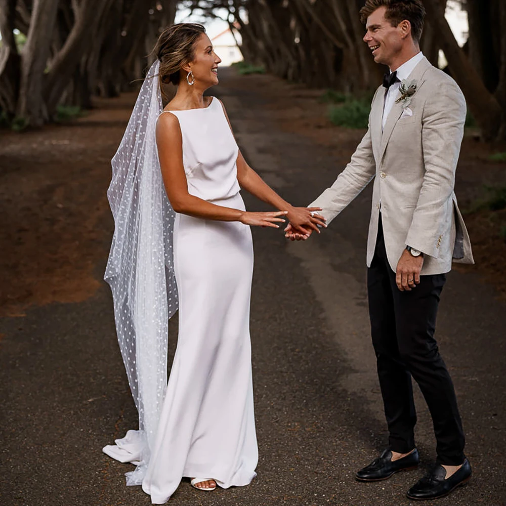
<path id="1" fill-rule="evenodd" d="M 183 136 L 179 120 L 174 114 L 162 114 L 159 117 L 156 144 L 165 191 L 176 213 L 207 220 L 239 221 L 247 225 L 275 228 L 278 228 L 276 222 L 284 222 L 279 216 L 286 213 L 249 213 L 190 195 L 183 165 Z"/>

